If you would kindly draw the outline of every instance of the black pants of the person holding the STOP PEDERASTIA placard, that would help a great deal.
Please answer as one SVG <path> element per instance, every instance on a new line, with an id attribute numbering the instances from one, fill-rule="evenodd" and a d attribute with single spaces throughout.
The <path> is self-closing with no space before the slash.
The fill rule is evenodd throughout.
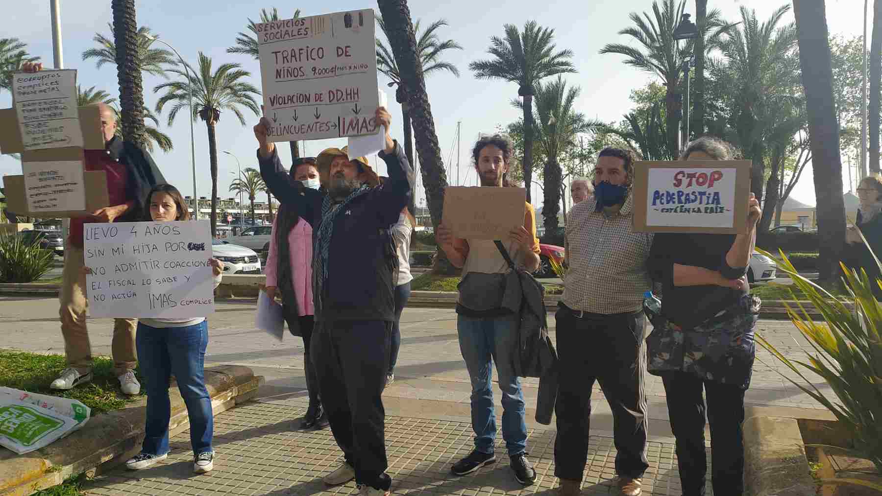
<path id="1" fill-rule="evenodd" d="M 670 428 L 676 437 L 683 496 L 705 494 L 705 412 L 711 425 L 714 496 L 741 496 L 744 492 L 744 389 L 702 381 L 684 372 L 666 374 L 662 379 Z M 705 390 L 707 406 L 701 389 Z"/>

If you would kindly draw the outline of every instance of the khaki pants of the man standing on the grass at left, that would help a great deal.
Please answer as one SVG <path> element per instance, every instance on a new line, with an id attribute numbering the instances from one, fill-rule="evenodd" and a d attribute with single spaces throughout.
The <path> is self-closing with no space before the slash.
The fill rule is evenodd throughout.
<path id="1" fill-rule="evenodd" d="M 86 274 L 83 273 L 83 248 L 64 247 L 64 272 L 62 274 L 61 294 L 58 300 L 61 308 L 61 333 L 64 336 L 64 354 L 68 366 L 86 374 L 92 370 L 92 344 L 86 328 Z M 125 374 L 138 365 L 135 352 L 135 329 L 138 319 L 115 319 L 113 326 L 114 371 L 116 376 Z"/>

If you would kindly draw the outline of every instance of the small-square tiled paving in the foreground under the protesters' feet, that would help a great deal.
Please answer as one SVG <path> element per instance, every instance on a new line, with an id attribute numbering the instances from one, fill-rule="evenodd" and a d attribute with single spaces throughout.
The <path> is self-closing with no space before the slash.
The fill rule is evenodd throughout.
<path id="1" fill-rule="evenodd" d="M 114 470 L 86 485 L 86 494 L 355 494 L 355 483 L 327 487 L 321 477 L 341 463 L 331 432 L 299 432 L 305 411 L 302 399 L 245 403 L 215 418 L 214 470 L 192 473 L 189 433 L 171 441 L 168 460 L 147 470 Z M 386 417 L 386 447 L 394 479 L 393 494 L 543 494 L 555 493 L 554 430 L 529 432 L 529 458 L 537 480 L 524 488 L 514 480 L 497 440 L 497 463 L 466 477 L 454 477 L 450 466 L 472 448 L 472 431 L 463 421 Z M 591 436 L 582 494 L 617 494 L 616 448 L 612 438 Z M 644 478 L 647 495 L 679 496 L 674 445 L 651 440 L 650 468 Z M 708 464 L 709 464 L 708 460 Z M 708 487 L 708 495 L 713 494 Z"/>

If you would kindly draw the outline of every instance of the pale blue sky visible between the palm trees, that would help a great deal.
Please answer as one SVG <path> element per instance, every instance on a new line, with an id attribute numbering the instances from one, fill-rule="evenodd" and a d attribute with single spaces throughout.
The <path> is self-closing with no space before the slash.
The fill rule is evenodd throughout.
<path id="1" fill-rule="evenodd" d="M 247 18 L 257 19 L 262 7 L 273 4 L 259 4 L 236 0 L 212 1 L 191 0 L 153 0 L 138 1 L 138 25 L 150 26 L 153 33 L 171 43 L 189 63 L 195 63 L 198 51 L 213 57 L 215 66 L 220 63 L 241 63 L 253 75 L 252 83 L 260 87 L 259 66 L 246 56 L 226 53 L 226 48 L 235 42 L 235 34 L 244 30 Z M 295 4 L 280 6 L 284 17 L 292 17 Z M 321 4 L 321 7 L 316 5 Z M 777 7 L 785 4 L 783 0 L 723 0 L 710 2 L 709 8 L 719 8 L 726 19 L 737 19 L 738 9 L 744 5 L 756 9 L 759 19 L 765 20 Z M 87 5 L 87 7 L 86 7 Z M 633 43 L 617 31 L 629 26 L 628 13 L 650 11 L 652 3 L 648 0 L 619 0 L 617 2 L 584 2 L 583 0 L 558 0 L 542 3 L 545 10 L 535 11 L 536 3 L 527 0 L 489 2 L 486 0 L 449 0 L 431 2 L 411 0 L 409 2 L 414 20 L 425 19 L 424 23 L 435 19 L 446 19 L 450 26 L 442 28 L 441 36 L 460 42 L 465 49 L 448 52 L 446 59 L 460 68 L 460 78 L 450 74 L 437 74 L 427 80 L 430 105 L 435 116 L 438 142 L 447 164 L 452 156 L 453 174 L 449 176 L 453 184 L 456 180 L 455 143 L 457 122 L 462 122 L 462 145 L 460 156 L 460 181 L 462 184 L 475 184 L 474 170 L 469 167 L 468 150 L 478 133 L 491 132 L 497 125 L 505 125 L 516 120 L 519 111 L 510 105 L 517 96 L 517 86 L 497 81 L 479 81 L 468 70 L 468 63 L 486 58 L 485 50 L 490 45 L 490 36 L 502 35 L 503 24 L 523 26 L 529 19 L 535 19 L 542 26 L 554 28 L 558 48 L 570 48 L 575 52 L 573 63 L 578 74 L 567 76 L 572 85 L 579 85 L 582 93 L 579 109 L 586 115 L 604 121 L 617 121 L 630 107 L 628 94 L 632 88 L 644 85 L 654 78 L 645 72 L 629 68 L 622 63 L 622 56 L 599 55 L 597 52 L 608 42 Z M 355 0 L 328 0 L 322 3 L 310 2 L 301 6 L 302 15 L 348 11 L 363 8 L 377 10 L 377 4 Z M 871 3 L 872 8 L 872 3 Z M 317 10 L 320 9 L 320 10 Z M 831 33 L 855 36 L 863 32 L 863 2 L 859 0 L 826 0 L 828 29 Z M 694 13 L 694 2 L 687 0 L 686 11 Z M 872 16 L 872 12 L 870 12 Z M 62 36 L 64 41 L 64 67 L 78 69 L 78 83 L 85 87 L 96 86 L 116 96 L 116 66 L 104 65 L 100 70 L 93 61 L 83 62 L 80 55 L 87 48 L 93 48 L 94 33 L 109 35 L 108 22 L 111 21 L 110 2 L 107 0 L 61 0 Z M 788 16 L 793 19 L 792 11 Z M 46 0 L 10 0 L 4 5 L 4 15 L 0 18 L 0 33 L 4 37 L 17 37 L 25 41 L 28 50 L 42 57 L 44 63 L 52 63 L 52 36 L 49 22 L 49 2 Z M 860 74 L 855 75 L 860 78 Z M 161 78 L 145 75 L 145 100 L 153 108 L 158 95 L 153 87 L 160 84 Z M 379 84 L 385 88 L 387 80 L 379 76 Z M 394 101 L 392 91 L 388 92 Z M 0 108 L 11 106 L 9 93 L 0 94 Z M 400 138 L 400 108 L 392 108 L 392 136 Z M 221 115 L 217 126 L 219 150 L 229 150 L 241 160 L 243 167 L 256 167 L 254 151 L 256 142 L 250 130 L 254 115 L 247 115 L 249 125 L 240 126 L 234 115 Z M 166 179 L 184 191 L 192 190 L 190 159 L 190 128 L 183 115 L 179 115 L 171 128 L 166 126 L 165 115 L 161 117 L 161 130 L 168 133 L 175 144 L 172 152 L 156 151 L 153 158 L 161 167 Z M 208 167 L 208 144 L 206 126 L 196 122 L 196 167 L 199 196 L 211 193 L 211 178 Z M 307 142 L 305 149 L 310 155 L 318 153 L 326 146 L 342 144 L 341 140 Z M 283 147 L 283 161 L 288 161 L 287 146 Z M 218 190 L 219 196 L 232 196 L 227 193 L 229 182 L 235 179 L 230 174 L 236 170 L 235 160 L 225 154 L 219 155 Z M 382 161 L 378 163 L 382 173 Z M 470 174 L 469 174 L 470 173 Z M 20 163 L 8 155 L 0 155 L 0 174 L 21 174 Z M 847 182 L 848 174 L 843 171 Z M 422 196 L 422 188 L 419 189 Z M 534 197 L 537 192 L 534 192 Z M 806 170 L 800 184 L 794 190 L 794 197 L 806 204 L 814 204 L 814 186 L 811 171 Z M 538 203 L 538 202 L 534 202 Z"/>

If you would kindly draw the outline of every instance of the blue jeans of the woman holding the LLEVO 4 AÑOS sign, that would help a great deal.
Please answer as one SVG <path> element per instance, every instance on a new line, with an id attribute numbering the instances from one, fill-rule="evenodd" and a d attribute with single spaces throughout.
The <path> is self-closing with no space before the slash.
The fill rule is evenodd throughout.
<path id="1" fill-rule="evenodd" d="M 208 322 L 164 329 L 138 322 L 135 344 L 147 392 L 147 418 L 141 451 L 150 455 L 168 453 L 170 374 L 175 374 L 177 388 L 187 405 L 193 453 L 198 455 L 212 451 L 214 415 L 203 370 L 208 344 Z"/>

